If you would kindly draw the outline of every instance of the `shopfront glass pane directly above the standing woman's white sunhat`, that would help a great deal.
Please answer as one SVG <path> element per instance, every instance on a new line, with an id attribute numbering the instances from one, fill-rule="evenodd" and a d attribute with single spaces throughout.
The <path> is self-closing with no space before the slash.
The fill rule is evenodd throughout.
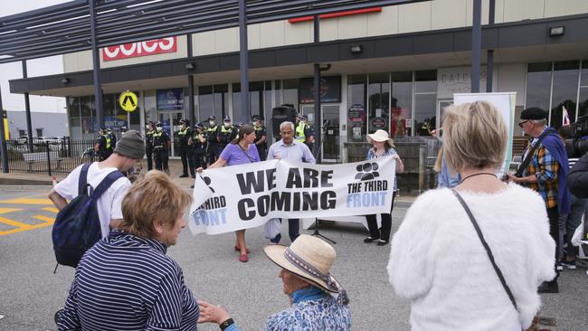
<path id="1" fill-rule="evenodd" d="M 369 132 L 383 129 L 388 132 L 390 123 L 390 74 L 369 74 Z"/>

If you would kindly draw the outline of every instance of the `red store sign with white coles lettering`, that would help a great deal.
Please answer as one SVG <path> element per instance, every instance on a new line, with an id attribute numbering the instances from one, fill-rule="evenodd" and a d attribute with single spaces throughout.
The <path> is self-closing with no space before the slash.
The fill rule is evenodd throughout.
<path id="1" fill-rule="evenodd" d="M 146 42 L 125 43 L 102 48 L 103 61 L 116 61 L 139 56 L 177 52 L 177 37 L 149 40 Z"/>

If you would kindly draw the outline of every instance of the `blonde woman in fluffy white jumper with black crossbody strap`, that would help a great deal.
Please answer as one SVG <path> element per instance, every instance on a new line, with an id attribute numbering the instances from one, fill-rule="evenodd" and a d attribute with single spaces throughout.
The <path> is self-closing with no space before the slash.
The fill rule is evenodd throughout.
<path id="1" fill-rule="evenodd" d="M 443 130 L 461 183 L 408 210 L 392 241 L 390 283 L 412 300 L 413 330 L 526 329 L 541 303 L 537 286 L 555 277 L 545 203 L 498 179 L 507 127 L 488 102 L 450 107 Z"/>

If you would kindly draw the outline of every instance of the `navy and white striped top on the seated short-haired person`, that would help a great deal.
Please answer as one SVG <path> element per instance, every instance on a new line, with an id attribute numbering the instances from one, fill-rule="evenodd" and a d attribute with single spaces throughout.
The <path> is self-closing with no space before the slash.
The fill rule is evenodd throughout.
<path id="1" fill-rule="evenodd" d="M 166 246 L 114 230 L 83 256 L 61 330 L 196 330 L 198 304 Z"/>

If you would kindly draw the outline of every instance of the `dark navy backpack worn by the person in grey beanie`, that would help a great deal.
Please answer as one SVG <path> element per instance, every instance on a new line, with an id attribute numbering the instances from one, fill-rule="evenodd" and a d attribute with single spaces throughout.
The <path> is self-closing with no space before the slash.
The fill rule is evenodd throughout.
<path id="1" fill-rule="evenodd" d="M 111 184 L 123 176 L 121 172 L 113 171 L 94 189 L 88 184 L 90 165 L 81 166 L 78 196 L 57 214 L 52 229 L 57 263 L 73 268 L 78 266 L 83 254 L 102 238 L 96 202 Z"/>

